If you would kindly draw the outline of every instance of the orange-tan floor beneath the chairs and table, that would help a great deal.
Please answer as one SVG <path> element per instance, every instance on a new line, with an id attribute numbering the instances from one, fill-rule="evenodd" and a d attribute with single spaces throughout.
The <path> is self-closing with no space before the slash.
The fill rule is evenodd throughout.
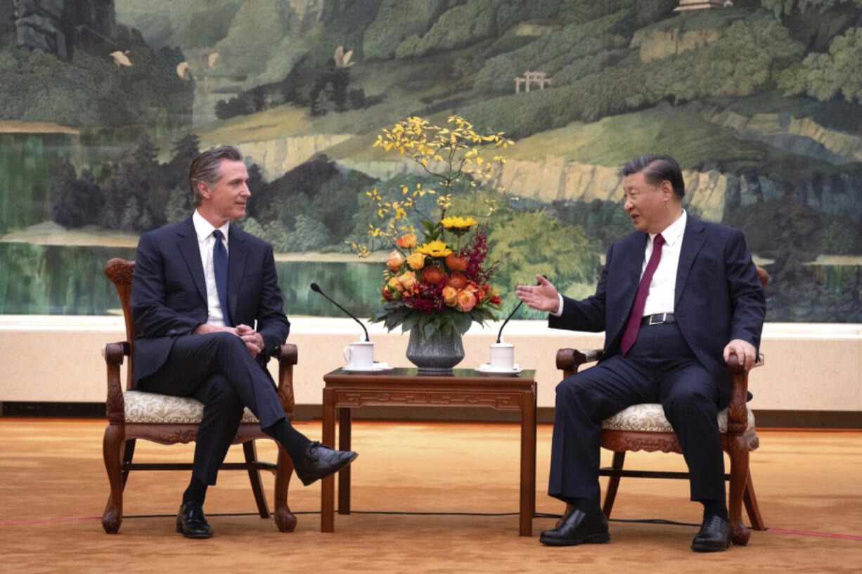
<path id="1" fill-rule="evenodd" d="M 279 533 L 252 514 L 247 475 L 226 471 L 205 507 L 215 537 L 185 540 L 173 517 L 187 473 L 139 471 L 129 478 L 120 533 L 109 535 L 98 520 L 108 496 L 104 426 L 0 418 L 0 572 L 862 571 L 859 431 L 760 431 L 752 470 L 771 530 L 704 555 L 689 550 L 696 527 L 684 524 L 612 521 L 607 545 L 549 548 L 536 535 L 554 519 L 540 517 L 534 537 L 519 537 L 519 427 L 504 423 L 355 422 L 353 509 L 363 512 L 336 515 L 334 533 L 320 533 L 319 484 L 291 481 L 298 525 Z M 320 438 L 320 421 L 297 427 Z M 562 508 L 544 492 L 550 438 L 540 425 L 537 510 L 553 514 Z M 141 462 L 191 457 L 187 445 L 138 444 Z M 274 459 L 271 444 L 259 452 Z M 240 459 L 240 448 L 228 457 Z M 672 454 L 628 458 L 633 467 L 684 467 Z M 271 489 L 271 478 L 265 484 Z M 696 523 L 700 515 L 682 481 L 624 478 L 613 518 Z"/>

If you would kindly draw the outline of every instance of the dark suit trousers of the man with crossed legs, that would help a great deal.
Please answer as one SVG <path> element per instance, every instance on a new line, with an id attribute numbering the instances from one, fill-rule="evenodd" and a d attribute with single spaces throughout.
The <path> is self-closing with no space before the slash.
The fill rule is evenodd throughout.
<path id="1" fill-rule="evenodd" d="M 244 407 L 258 417 L 261 428 L 285 416 L 272 380 L 232 333 L 178 337 L 165 364 L 138 381 L 138 389 L 203 402 L 192 462 L 192 475 L 203 484 L 215 484 Z"/>

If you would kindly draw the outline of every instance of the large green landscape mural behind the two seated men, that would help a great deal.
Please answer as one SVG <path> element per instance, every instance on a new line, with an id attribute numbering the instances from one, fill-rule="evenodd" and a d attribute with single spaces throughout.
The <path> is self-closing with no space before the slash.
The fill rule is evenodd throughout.
<path id="1" fill-rule="evenodd" d="M 366 192 L 436 183 L 372 142 L 455 112 L 516 141 L 480 191 L 505 190 L 504 309 L 536 272 L 591 292 L 631 228 L 619 169 L 654 152 L 746 233 L 767 320 L 862 322 L 862 1 L 680 4 L 0 0 L 0 313 L 116 313 L 104 261 L 188 216 L 191 159 L 235 144 L 287 314 L 340 314 L 316 281 L 370 316 Z"/>

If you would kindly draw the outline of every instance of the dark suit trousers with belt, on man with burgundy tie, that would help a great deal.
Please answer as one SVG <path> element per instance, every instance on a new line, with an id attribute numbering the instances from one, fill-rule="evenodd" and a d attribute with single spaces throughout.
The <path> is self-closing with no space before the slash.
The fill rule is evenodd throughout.
<path id="1" fill-rule="evenodd" d="M 633 404 L 660 402 L 689 467 L 691 500 L 724 501 L 724 455 L 715 378 L 676 323 L 642 326 L 626 355 L 565 377 L 557 386 L 548 495 L 600 502 L 602 421 Z"/>

